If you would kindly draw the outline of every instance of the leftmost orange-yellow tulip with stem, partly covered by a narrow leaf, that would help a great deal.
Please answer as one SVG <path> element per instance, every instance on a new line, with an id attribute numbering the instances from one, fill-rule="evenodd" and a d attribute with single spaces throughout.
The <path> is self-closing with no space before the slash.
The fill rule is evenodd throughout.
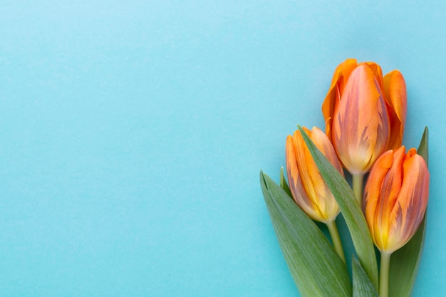
<path id="1" fill-rule="evenodd" d="M 304 127 L 304 130 L 314 145 L 343 174 L 341 163 L 336 157 L 336 152 L 328 137 L 317 127 L 313 127 L 311 131 Z M 341 239 L 335 223 L 340 212 L 338 204 L 326 182 L 323 181 L 299 130 L 294 132 L 294 136 L 289 135 L 286 138 L 286 172 L 294 200 L 308 217 L 328 226 L 333 246 L 345 262 Z"/>

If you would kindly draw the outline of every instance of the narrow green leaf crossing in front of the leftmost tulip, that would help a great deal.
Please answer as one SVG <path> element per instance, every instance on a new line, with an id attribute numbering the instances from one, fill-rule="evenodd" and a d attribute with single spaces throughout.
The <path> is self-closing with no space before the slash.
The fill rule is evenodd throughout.
<path id="1" fill-rule="evenodd" d="M 331 162 L 327 160 L 321 151 L 318 150 L 301 126 L 299 126 L 299 130 L 313 156 L 314 162 L 316 162 L 319 172 L 321 172 L 323 180 L 333 193 L 336 202 L 338 202 L 339 208 L 346 220 L 348 231 L 350 231 L 353 246 L 355 246 L 361 266 L 363 266 L 373 286 L 378 290 L 378 264 L 376 263 L 375 249 L 361 207 L 346 182 L 346 179 L 331 165 Z"/>

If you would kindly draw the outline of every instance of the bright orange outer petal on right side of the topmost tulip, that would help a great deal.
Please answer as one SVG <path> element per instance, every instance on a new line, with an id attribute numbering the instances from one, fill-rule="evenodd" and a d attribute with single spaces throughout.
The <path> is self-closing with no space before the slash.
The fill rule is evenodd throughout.
<path id="1" fill-rule="evenodd" d="M 403 142 L 405 117 L 408 110 L 405 80 L 400 71 L 391 71 L 384 76 L 383 91 L 390 117 L 391 133 L 388 150 L 396 150 Z"/>

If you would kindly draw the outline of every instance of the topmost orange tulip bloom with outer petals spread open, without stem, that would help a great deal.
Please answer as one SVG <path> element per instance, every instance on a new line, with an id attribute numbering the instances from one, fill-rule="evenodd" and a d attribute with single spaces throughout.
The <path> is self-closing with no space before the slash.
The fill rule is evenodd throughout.
<path id="1" fill-rule="evenodd" d="M 326 134 L 351 174 L 364 174 L 386 150 L 401 146 L 407 110 L 399 71 L 348 59 L 333 75 L 322 105 Z"/>

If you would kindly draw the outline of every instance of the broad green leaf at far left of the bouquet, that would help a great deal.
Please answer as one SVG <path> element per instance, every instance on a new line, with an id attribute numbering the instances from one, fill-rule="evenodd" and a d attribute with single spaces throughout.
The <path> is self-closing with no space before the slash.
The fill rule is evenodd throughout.
<path id="1" fill-rule="evenodd" d="M 350 297 L 346 266 L 318 226 L 268 175 L 261 190 L 291 276 L 303 297 Z"/>

